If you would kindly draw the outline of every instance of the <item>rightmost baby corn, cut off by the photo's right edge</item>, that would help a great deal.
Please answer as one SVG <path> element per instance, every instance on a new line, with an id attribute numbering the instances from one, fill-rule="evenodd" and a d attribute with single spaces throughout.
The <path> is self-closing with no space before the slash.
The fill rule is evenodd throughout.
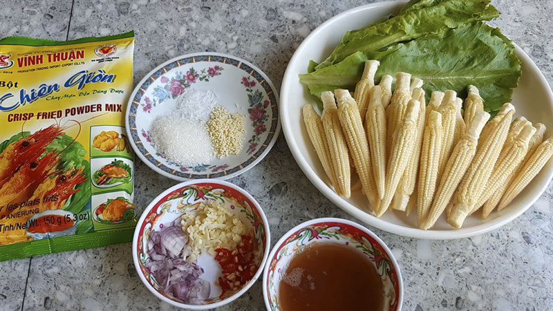
<path id="1" fill-rule="evenodd" d="M 512 181 L 511 185 L 507 187 L 507 191 L 503 194 L 499 202 L 498 209 L 504 209 L 509 205 L 512 200 L 523 191 L 523 189 L 538 175 L 543 169 L 545 164 L 549 162 L 553 156 L 553 138 L 548 138 L 542 142 L 539 147 L 534 151 L 534 154 L 524 164 L 521 171 L 519 171 Z"/>

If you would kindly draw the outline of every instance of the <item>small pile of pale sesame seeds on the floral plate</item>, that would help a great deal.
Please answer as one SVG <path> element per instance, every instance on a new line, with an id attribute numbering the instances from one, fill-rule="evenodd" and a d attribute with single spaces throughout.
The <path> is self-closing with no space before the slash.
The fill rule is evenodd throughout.
<path id="1" fill-rule="evenodd" d="M 240 153 L 245 133 L 243 115 L 233 115 L 224 107 L 216 106 L 207 122 L 207 131 L 218 158 Z"/>

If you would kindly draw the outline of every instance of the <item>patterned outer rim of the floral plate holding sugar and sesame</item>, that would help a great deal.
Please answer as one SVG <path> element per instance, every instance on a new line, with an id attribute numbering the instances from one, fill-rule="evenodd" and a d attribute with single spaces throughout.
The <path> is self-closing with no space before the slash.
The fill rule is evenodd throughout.
<path id="1" fill-rule="evenodd" d="M 142 86 L 142 84 L 144 84 L 144 82 L 146 82 L 151 77 L 151 75 L 153 75 L 153 73 L 156 73 L 156 71 L 158 71 L 161 68 L 167 66 L 168 64 L 171 64 L 172 62 L 176 62 L 178 59 L 182 59 L 182 58 L 186 58 L 186 57 L 194 57 L 194 56 L 203 56 L 203 55 L 214 55 L 214 56 L 228 57 L 228 58 L 236 59 L 238 62 L 242 62 L 242 63 L 246 64 L 247 66 L 250 66 L 251 68 L 256 70 L 261 75 L 261 77 L 263 77 L 263 79 L 265 79 L 265 81 L 269 84 L 270 88 L 272 89 L 274 97 L 277 100 L 277 108 L 278 108 L 277 109 L 277 115 L 273 115 L 273 118 L 274 117 L 277 118 L 277 120 L 276 120 L 277 129 L 274 130 L 274 135 L 273 135 L 272 139 L 270 140 L 269 144 L 267 145 L 267 147 L 265 147 L 265 150 L 263 150 L 263 152 L 257 158 L 255 158 L 250 164 L 248 164 L 246 167 L 243 167 L 242 169 L 239 169 L 238 171 L 235 171 L 234 173 L 229 173 L 229 174 L 224 175 L 224 176 L 214 177 L 212 179 L 227 180 L 227 179 L 239 176 L 242 173 L 245 173 L 246 171 L 249 171 L 250 169 L 252 169 L 252 167 L 256 166 L 256 164 L 261 162 L 261 160 L 263 160 L 263 158 L 265 158 L 265 156 L 268 155 L 269 151 L 271 151 L 272 147 L 277 142 L 277 139 L 279 138 L 279 134 L 281 132 L 279 92 L 277 91 L 277 88 L 274 86 L 274 84 L 272 83 L 269 76 L 267 74 L 265 74 L 263 72 L 263 70 L 259 69 L 257 66 L 255 66 L 254 64 L 248 62 L 247 60 L 242 59 L 241 57 L 237 57 L 237 56 L 234 56 L 234 55 L 228 55 L 228 54 L 224 54 L 224 53 L 198 52 L 198 53 L 190 53 L 190 54 L 184 54 L 184 55 L 179 55 L 179 56 L 173 57 L 173 58 L 167 60 L 166 62 L 163 62 L 159 66 L 156 66 L 156 68 L 153 68 L 152 70 L 150 70 L 146 75 L 144 75 L 144 77 L 142 77 L 140 82 L 138 82 L 138 84 L 136 84 L 135 88 L 133 89 L 133 93 L 131 93 L 131 97 L 129 97 L 129 100 L 126 103 L 125 131 L 126 131 L 127 138 L 129 138 L 128 140 L 131 143 L 131 147 L 133 147 L 133 150 L 134 150 L 135 154 L 138 155 L 138 158 L 140 158 L 140 160 L 142 160 L 142 162 L 144 162 L 144 164 L 146 164 L 150 169 L 153 169 L 157 173 L 160 173 L 162 176 L 165 176 L 167 178 L 171 178 L 173 180 L 177 180 L 177 181 L 180 181 L 180 182 L 184 182 L 184 181 L 188 181 L 188 180 L 199 180 L 200 178 L 192 178 L 191 179 L 191 178 L 183 178 L 183 177 L 180 177 L 180 176 L 175 176 L 171 173 L 163 171 L 159 167 L 156 167 L 156 165 L 154 165 L 146 157 L 144 157 L 144 155 L 142 154 L 140 149 L 138 149 L 138 147 L 136 146 L 135 141 L 132 139 L 133 136 L 131 135 L 131 125 L 129 124 L 129 115 L 131 114 L 131 103 L 133 102 L 133 99 L 134 99 L 136 93 L 138 93 L 138 91 L 140 90 L 140 87 Z M 205 178 L 202 177 L 201 179 L 205 179 Z M 210 178 L 208 178 L 208 179 L 210 179 Z"/>

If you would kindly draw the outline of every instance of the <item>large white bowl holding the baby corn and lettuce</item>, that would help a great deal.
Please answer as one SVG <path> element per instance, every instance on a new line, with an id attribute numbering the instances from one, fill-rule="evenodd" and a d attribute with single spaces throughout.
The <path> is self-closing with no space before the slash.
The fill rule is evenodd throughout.
<path id="1" fill-rule="evenodd" d="M 502 211 L 494 211 L 486 220 L 480 216 L 469 216 L 462 229 L 451 229 L 442 217 L 432 230 L 416 229 L 415 215 L 406 218 L 404 213 L 388 211 L 382 218 L 377 218 L 366 211 L 366 200 L 360 191 L 354 191 L 349 200 L 341 198 L 328 187 L 328 180 L 317 155 L 312 150 L 305 126 L 301 120 L 301 106 L 313 102 L 308 90 L 299 82 L 301 73 L 306 73 L 310 59 L 324 60 L 337 46 L 346 31 L 362 28 L 388 14 L 397 12 L 404 5 L 403 1 L 386 1 L 359 6 L 341 13 L 324 22 L 303 40 L 296 50 L 283 78 L 281 101 L 279 105 L 282 128 L 292 155 L 303 173 L 313 185 L 327 198 L 352 216 L 368 225 L 402 236 L 413 238 L 451 239 L 465 238 L 496 229 L 513 220 L 528 209 L 543 194 L 553 176 L 553 165 L 549 162 L 541 173 L 534 178 L 528 187 Z M 532 59 L 515 46 L 515 53 L 521 59 L 523 75 L 518 88 L 514 91 L 512 102 L 516 115 L 524 115 L 532 122 L 541 122 L 547 126 L 546 137 L 551 135 L 553 127 L 553 93 L 545 77 L 532 62 Z M 321 178 L 321 176 L 324 176 Z"/>

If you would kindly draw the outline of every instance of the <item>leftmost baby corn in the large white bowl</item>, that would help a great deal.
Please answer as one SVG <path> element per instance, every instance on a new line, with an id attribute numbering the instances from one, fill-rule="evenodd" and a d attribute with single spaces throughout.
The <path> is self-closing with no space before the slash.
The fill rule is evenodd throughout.
<path id="1" fill-rule="evenodd" d="M 326 135 L 324 134 L 323 123 L 321 117 L 315 112 L 313 106 L 306 104 L 303 106 L 303 122 L 306 124 L 307 133 L 315 152 L 323 165 L 323 169 L 330 179 L 330 183 L 333 187 L 336 187 L 336 179 L 334 177 L 334 169 L 332 168 L 332 160 L 330 160 L 330 150 L 328 149 L 328 142 Z"/>

